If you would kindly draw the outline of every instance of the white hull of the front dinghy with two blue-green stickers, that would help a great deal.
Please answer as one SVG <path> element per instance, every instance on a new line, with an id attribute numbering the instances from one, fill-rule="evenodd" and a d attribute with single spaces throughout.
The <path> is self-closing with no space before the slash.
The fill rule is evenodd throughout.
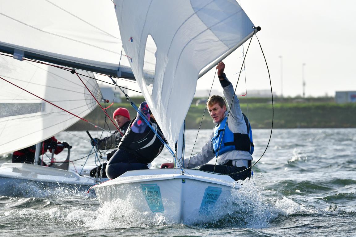
<path id="1" fill-rule="evenodd" d="M 186 169 L 128 171 L 94 186 L 101 205 L 122 202 L 140 213 L 163 215 L 168 223 L 196 223 L 223 217 L 240 184 L 227 175 Z M 109 204 L 110 205 L 110 204 Z"/>

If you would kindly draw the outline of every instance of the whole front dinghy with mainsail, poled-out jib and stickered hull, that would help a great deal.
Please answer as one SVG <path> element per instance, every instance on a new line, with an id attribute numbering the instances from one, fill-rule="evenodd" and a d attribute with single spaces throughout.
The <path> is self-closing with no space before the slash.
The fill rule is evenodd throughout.
<path id="1" fill-rule="evenodd" d="M 182 138 L 198 78 L 258 29 L 235 0 L 46 0 L 36 5 L 19 0 L 3 5 L 1 52 L 135 77 L 169 147 Z M 138 211 L 162 213 L 173 223 L 189 223 L 229 205 L 240 184 L 227 175 L 184 169 L 180 140 L 173 154 L 177 168 L 128 171 L 95 185 L 100 203 L 131 200 Z"/>

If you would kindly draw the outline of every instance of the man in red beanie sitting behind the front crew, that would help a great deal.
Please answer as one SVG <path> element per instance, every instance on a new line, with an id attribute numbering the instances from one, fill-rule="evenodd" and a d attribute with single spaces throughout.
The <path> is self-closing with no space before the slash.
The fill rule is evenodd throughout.
<path id="1" fill-rule="evenodd" d="M 130 113 L 127 109 L 125 108 L 117 108 L 114 113 L 112 114 L 112 117 L 116 121 L 117 126 L 119 126 L 119 129 L 122 134 L 125 134 L 127 128 L 129 128 L 130 125 Z M 98 140 L 98 138 L 94 138 L 91 141 L 92 146 L 96 146 L 96 149 L 99 150 L 108 150 L 108 149 L 114 149 L 114 151 L 110 152 L 106 158 L 110 160 L 111 156 L 114 155 L 116 152 L 116 148 L 119 145 L 119 142 L 121 141 L 121 134 L 119 130 L 116 130 L 114 133 L 111 134 L 111 136 L 108 136 L 104 139 Z M 102 177 L 106 178 L 105 174 L 105 167 L 106 163 L 103 164 L 103 175 Z M 90 176 L 95 177 L 99 176 L 101 170 L 101 165 L 98 167 L 95 167 L 90 171 Z"/>

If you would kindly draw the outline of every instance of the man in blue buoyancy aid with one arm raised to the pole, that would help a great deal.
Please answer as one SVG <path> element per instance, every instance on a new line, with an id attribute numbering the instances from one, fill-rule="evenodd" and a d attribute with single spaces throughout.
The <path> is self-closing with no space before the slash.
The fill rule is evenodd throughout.
<path id="1" fill-rule="evenodd" d="M 204 166 L 204 164 L 217 157 L 218 165 L 231 167 L 227 167 L 228 171 L 226 173 L 236 173 L 231 177 L 235 180 L 244 180 L 251 177 L 251 168 L 249 168 L 251 167 L 251 155 L 253 153 L 251 126 L 241 111 L 239 99 L 234 93 L 234 87 L 225 76 L 225 64 L 220 62 L 216 69 L 218 69 L 218 77 L 227 103 L 231 104 L 232 98 L 234 98 L 230 108 L 230 115 L 227 116 L 229 112 L 226 109 L 227 106 L 223 97 L 215 95 L 208 99 L 207 108 L 216 126 L 201 151 L 190 157 L 190 160 L 189 158 L 184 159 L 184 164 L 187 164 L 184 166 L 186 168 L 200 166 L 198 169 L 213 171 L 210 170 L 211 166 Z M 164 163 L 161 168 L 163 167 L 173 168 L 173 163 Z M 217 167 L 215 172 L 220 173 L 219 170 L 224 167 Z"/>

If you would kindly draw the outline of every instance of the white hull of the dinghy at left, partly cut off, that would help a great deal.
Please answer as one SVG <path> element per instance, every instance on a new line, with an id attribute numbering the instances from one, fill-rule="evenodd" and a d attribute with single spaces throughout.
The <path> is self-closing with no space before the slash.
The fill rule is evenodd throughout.
<path id="1" fill-rule="evenodd" d="M 4 163 L 0 167 L 0 195 L 5 196 L 42 196 L 54 189 L 84 192 L 95 183 L 95 178 L 51 167 L 26 163 Z"/>

